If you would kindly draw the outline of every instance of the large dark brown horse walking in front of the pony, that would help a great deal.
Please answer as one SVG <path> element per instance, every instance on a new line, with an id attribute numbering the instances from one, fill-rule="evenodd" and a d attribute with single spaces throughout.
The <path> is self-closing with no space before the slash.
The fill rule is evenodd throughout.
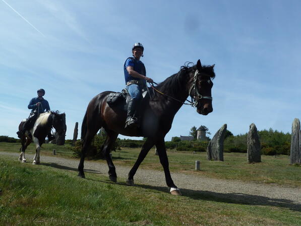
<path id="1" fill-rule="evenodd" d="M 95 96 L 89 103 L 82 124 L 82 153 L 78 166 L 79 176 L 85 178 L 84 160 L 87 148 L 97 131 L 103 127 L 107 133 L 102 151 L 109 167 L 109 178 L 116 182 L 115 166 L 109 155 L 110 149 L 118 134 L 125 136 L 143 136 L 146 141 L 127 180 L 128 185 L 134 185 L 134 175 L 154 145 L 157 148 L 160 162 L 163 166 L 166 184 L 171 194 L 180 194 L 174 185 L 168 166 L 168 158 L 165 149 L 164 137 L 171 128 L 174 115 L 183 105 L 188 96 L 192 97 L 192 105 L 197 108 L 201 115 L 212 112 L 211 78 L 215 77 L 213 66 L 203 66 L 200 60 L 197 64 L 189 67 L 182 66 L 180 71 L 154 87 L 156 89 L 154 98 L 146 98 L 140 104 L 141 126 L 140 129 L 126 128 L 125 121 L 127 112 L 120 107 L 110 107 L 106 99 L 111 91 L 105 91 Z M 159 91 L 159 92 L 158 92 Z"/>

